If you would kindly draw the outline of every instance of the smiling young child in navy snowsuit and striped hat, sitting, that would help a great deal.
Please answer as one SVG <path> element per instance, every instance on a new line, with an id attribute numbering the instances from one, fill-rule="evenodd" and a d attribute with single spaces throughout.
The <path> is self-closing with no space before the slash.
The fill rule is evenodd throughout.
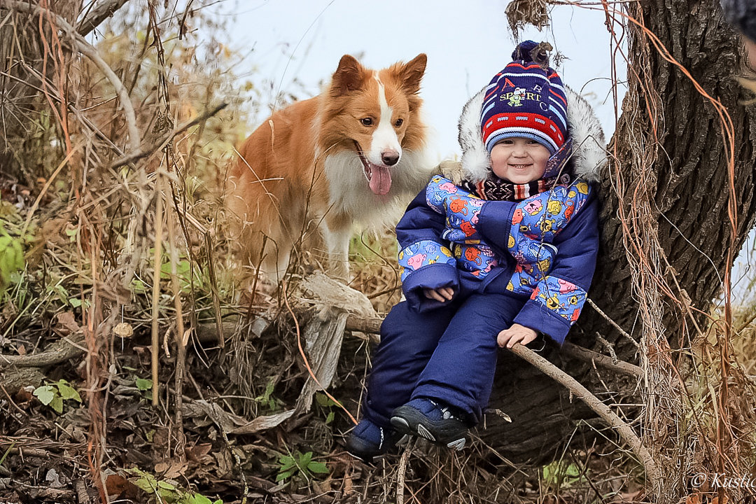
<path id="1" fill-rule="evenodd" d="M 539 334 L 562 345 L 585 301 L 603 133 L 540 45 L 512 57 L 463 110 L 461 184 L 434 177 L 396 227 L 406 301 L 381 326 L 347 441 L 367 462 L 406 434 L 461 449 L 488 404 L 497 345 Z"/>

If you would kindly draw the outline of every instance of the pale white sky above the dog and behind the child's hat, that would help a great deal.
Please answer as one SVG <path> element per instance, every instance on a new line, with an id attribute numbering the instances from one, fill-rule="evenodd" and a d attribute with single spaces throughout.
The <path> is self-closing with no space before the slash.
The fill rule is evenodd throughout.
<path id="1" fill-rule="evenodd" d="M 457 119 L 466 100 L 511 60 L 515 43 L 504 14 L 508 2 L 484 0 L 247 0 L 234 5 L 234 48 L 252 48 L 243 61 L 253 81 L 270 79 L 281 90 L 298 79 L 308 96 L 330 79 L 343 54 L 370 68 L 428 55 L 421 96 L 435 129 L 440 157 L 460 153 Z M 553 26 L 528 29 L 521 39 L 548 41 L 565 59 L 562 81 L 582 90 L 596 107 L 607 138 L 614 130 L 610 36 L 604 14 L 560 6 Z M 553 66 L 553 63 L 552 63 Z M 624 62 L 618 61 L 624 79 Z M 619 86 L 624 94 L 624 86 Z M 621 96 L 619 97 L 621 103 Z"/>

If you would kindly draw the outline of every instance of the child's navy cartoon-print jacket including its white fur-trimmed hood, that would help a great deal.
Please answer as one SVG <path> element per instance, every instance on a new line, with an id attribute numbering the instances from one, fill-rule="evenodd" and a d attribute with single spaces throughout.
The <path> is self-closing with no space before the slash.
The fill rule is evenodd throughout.
<path id="1" fill-rule="evenodd" d="M 445 305 L 426 298 L 426 288 L 451 286 L 463 295 L 509 291 L 528 298 L 516 322 L 562 344 L 593 277 L 599 203 L 589 182 L 597 181 L 606 165 L 606 143 L 595 113 L 568 86 L 565 92 L 570 137 L 565 146 L 574 147 L 552 156 L 547 174 L 556 176 L 566 167 L 575 177 L 572 183 L 520 202 L 488 201 L 435 176 L 407 208 L 396 231 L 402 290 L 411 310 Z M 485 88 L 469 100 L 460 118 L 460 164 L 463 178 L 473 184 L 491 173 L 480 127 L 484 101 Z"/>

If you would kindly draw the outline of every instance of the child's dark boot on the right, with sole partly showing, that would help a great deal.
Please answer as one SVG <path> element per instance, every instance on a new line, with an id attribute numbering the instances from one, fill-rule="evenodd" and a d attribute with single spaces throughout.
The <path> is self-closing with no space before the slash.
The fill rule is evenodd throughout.
<path id="1" fill-rule="evenodd" d="M 425 397 L 413 399 L 394 410 L 391 425 L 400 434 L 420 436 L 455 450 L 465 447 L 464 413 Z"/>

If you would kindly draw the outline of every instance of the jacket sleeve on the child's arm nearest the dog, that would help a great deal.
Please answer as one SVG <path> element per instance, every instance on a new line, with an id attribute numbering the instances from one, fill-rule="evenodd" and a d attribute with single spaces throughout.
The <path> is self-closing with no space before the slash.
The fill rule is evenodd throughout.
<path id="1" fill-rule="evenodd" d="M 445 212 L 443 208 L 429 205 L 425 189 L 412 200 L 396 225 L 401 289 L 413 311 L 444 305 L 441 301 L 426 298 L 423 288 L 451 287 L 455 293 L 459 290 L 456 260 L 448 243 L 441 237 L 444 227 Z"/>

